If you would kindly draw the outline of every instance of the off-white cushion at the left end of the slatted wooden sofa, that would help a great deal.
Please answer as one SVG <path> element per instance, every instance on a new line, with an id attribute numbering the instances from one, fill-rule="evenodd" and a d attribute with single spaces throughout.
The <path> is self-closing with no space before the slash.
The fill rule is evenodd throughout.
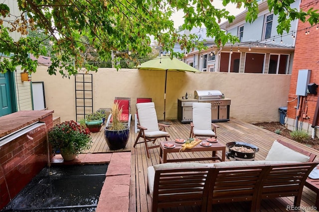
<path id="1" fill-rule="evenodd" d="M 154 191 L 154 178 L 155 170 L 157 169 L 171 169 L 171 168 L 183 168 L 183 167 L 207 167 L 207 164 L 204 163 L 162 163 L 154 166 L 148 167 L 148 182 L 150 195 L 153 197 Z"/>

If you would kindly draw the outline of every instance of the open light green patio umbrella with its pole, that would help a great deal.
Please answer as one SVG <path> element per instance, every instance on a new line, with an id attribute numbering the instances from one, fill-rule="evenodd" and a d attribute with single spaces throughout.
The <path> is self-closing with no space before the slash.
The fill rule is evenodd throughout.
<path id="1" fill-rule="evenodd" d="M 170 56 L 164 55 L 157 57 L 153 60 L 149 60 L 140 64 L 138 69 L 150 70 L 150 71 L 165 71 L 165 89 L 164 89 L 164 121 L 165 121 L 165 106 L 166 106 L 166 81 L 167 71 L 188 71 L 188 72 L 200 72 L 197 69 L 187 65 L 186 63 L 176 59 L 170 58 Z"/>

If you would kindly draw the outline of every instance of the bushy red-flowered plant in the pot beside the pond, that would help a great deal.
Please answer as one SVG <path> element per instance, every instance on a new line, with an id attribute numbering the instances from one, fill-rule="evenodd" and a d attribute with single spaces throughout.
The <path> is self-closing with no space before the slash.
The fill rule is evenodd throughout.
<path id="1" fill-rule="evenodd" d="M 92 144 L 90 130 L 71 120 L 64 121 L 48 131 L 49 143 L 55 153 L 80 154 L 90 149 Z"/>

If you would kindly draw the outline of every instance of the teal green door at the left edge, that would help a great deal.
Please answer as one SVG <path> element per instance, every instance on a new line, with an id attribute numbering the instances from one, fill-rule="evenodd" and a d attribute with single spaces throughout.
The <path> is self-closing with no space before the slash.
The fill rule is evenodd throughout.
<path id="1" fill-rule="evenodd" d="M 0 116 L 12 113 L 9 73 L 0 73 Z"/>

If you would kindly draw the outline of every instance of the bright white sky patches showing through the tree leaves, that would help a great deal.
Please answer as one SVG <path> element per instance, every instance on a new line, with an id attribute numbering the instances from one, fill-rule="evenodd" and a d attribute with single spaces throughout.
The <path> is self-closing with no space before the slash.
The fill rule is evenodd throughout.
<path id="1" fill-rule="evenodd" d="M 214 0 L 212 2 L 212 4 L 216 8 L 219 8 L 219 9 L 226 8 L 230 12 L 230 14 L 232 14 L 232 15 L 237 15 L 245 10 L 243 7 L 240 9 L 236 8 L 236 4 L 232 4 L 232 3 L 229 3 L 229 4 L 227 4 L 226 7 L 224 7 L 222 4 L 222 0 Z M 183 24 L 183 16 L 184 16 L 184 13 L 182 11 L 177 11 L 172 15 L 172 20 L 174 21 L 174 28 L 175 29 L 177 29 L 178 26 Z M 221 23 L 224 21 L 225 21 L 225 19 L 221 20 Z"/>

